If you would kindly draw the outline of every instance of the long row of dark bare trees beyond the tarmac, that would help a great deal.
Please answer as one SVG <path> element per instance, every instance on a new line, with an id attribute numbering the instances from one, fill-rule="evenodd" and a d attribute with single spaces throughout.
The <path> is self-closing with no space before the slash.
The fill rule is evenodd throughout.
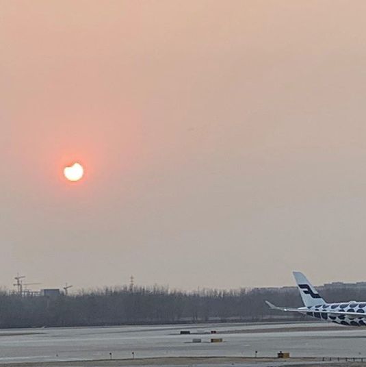
<path id="1" fill-rule="evenodd" d="M 364 290 L 328 289 L 329 302 L 366 299 Z M 300 307 L 296 289 L 200 290 L 166 288 L 104 288 L 60 296 L 19 296 L 0 292 L 0 328 L 143 325 L 263 320 L 302 320 L 300 314 L 271 310 L 276 305 Z"/>

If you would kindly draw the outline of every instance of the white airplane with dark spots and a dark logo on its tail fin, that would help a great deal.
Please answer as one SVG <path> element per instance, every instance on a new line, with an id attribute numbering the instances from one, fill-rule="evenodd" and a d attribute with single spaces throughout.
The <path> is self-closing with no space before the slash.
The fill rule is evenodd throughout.
<path id="1" fill-rule="evenodd" d="M 298 271 L 293 272 L 296 283 L 301 294 L 304 307 L 288 308 L 277 307 L 272 303 L 265 301 L 272 309 L 278 309 L 285 312 L 298 312 L 307 316 L 319 318 L 329 322 L 335 322 L 348 326 L 366 326 L 366 301 L 365 302 L 343 302 L 326 303 L 304 274 Z"/>

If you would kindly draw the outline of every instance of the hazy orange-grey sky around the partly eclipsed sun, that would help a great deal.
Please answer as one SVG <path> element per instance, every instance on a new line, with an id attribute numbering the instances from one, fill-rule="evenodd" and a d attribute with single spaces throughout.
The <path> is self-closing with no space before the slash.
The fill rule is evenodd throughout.
<path id="1" fill-rule="evenodd" d="M 0 0 L 0 284 L 365 280 L 365 14 Z"/>

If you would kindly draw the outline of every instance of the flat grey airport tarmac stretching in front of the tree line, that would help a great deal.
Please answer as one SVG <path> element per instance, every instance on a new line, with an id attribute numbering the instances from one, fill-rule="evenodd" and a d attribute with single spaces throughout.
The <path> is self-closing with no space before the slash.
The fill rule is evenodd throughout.
<path id="1" fill-rule="evenodd" d="M 191 334 L 180 335 L 183 330 Z M 216 333 L 211 334 L 211 331 Z M 201 342 L 193 343 L 194 338 Z M 211 343 L 211 338 L 222 338 L 223 342 Z M 254 359 L 255 351 L 257 359 Z M 312 360 L 298 359 L 303 357 L 315 357 L 317 365 L 322 363 L 323 357 L 332 357 L 333 363 L 337 362 L 337 357 L 365 358 L 366 365 L 366 327 L 301 322 L 0 331 L 0 364 L 3 366 L 14 366 L 14 363 L 18 366 L 133 366 L 138 363 L 146 366 L 153 362 L 151 358 L 159 360 L 158 364 L 151 364 L 155 366 L 177 366 L 179 362 L 184 362 L 181 366 L 204 366 L 207 357 L 227 357 L 228 366 L 234 363 L 235 366 L 275 367 L 284 363 L 272 359 L 278 351 L 289 352 L 295 357 L 291 363 L 285 362 L 288 366 L 313 364 Z M 131 360 L 133 357 L 135 361 Z M 115 361 L 108 361 L 110 358 Z M 194 361 L 199 363 L 189 358 L 196 358 Z M 81 362 L 77 361 L 86 362 L 79 364 Z M 127 362 L 129 364 L 124 364 Z M 224 360 L 220 363 L 226 366 Z M 212 361 L 207 366 L 211 364 Z"/>

